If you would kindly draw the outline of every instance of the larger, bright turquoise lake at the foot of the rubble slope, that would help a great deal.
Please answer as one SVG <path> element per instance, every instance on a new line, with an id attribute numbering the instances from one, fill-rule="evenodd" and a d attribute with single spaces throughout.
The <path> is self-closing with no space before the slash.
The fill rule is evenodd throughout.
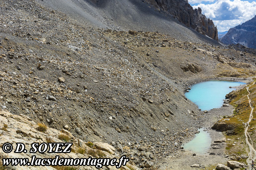
<path id="1" fill-rule="evenodd" d="M 201 110 L 211 110 L 223 105 L 226 94 L 235 90 L 235 86 L 245 84 L 237 81 L 210 80 L 194 84 L 185 96 Z"/>

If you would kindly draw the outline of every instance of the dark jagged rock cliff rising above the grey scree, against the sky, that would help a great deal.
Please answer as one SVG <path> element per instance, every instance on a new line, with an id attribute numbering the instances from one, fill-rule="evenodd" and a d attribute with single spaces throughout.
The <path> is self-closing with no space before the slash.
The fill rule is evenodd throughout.
<path id="1" fill-rule="evenodd" d="M 178 19 L 187 27 L 207 35 L 218 41 L 218 30 L 214 23 L 205 15 L 201 8 L 193 9 L 187 0 L 146 0 L 158 10 L 162 10 Z"/>

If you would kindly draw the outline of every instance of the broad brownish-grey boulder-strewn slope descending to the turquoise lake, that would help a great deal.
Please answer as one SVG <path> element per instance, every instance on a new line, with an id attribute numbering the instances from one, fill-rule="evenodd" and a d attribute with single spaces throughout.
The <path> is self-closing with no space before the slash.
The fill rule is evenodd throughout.
<path id="1" fill-rule="evenodd" d="M 158 167 L 197 132 L 205 113 L 186 99 L 190 84 L 255 75 L 253 54 L 177 23 L 170 35 L 116 23 L 106 29 L 55 3 L 0 3 L 1 109 L 83 141 L 110 143 L 139 168 Z"/>

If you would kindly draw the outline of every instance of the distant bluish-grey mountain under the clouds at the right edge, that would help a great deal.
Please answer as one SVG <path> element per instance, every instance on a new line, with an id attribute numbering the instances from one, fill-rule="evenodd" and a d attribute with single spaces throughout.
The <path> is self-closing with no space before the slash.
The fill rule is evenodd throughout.
<path id="1" fill-rule="evenodd" d="M 256 48 L 256 15 L 249 21 L 231 28 L 220 40 L 224 44 L 242 44 Z"/>

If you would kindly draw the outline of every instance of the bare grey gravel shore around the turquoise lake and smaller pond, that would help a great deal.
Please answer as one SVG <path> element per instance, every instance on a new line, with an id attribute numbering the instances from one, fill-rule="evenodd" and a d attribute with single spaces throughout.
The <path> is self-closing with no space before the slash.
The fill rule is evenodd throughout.
<path id="1" fill-rule="evenodd" d="M 251 78 L 232 78 L 234 81 L 241 81 L 241 82 L 251 82 Z M 208 79 L 209 80 L 230 80 L 230 78 L 216 78 L 216 79 Z M 200 81 L 202 82 L 202 81 Z M 195 82 L 199 83 L 199 82 Z M 194 84 L 194 83 L 193 83 Z M 247 86 L 247 84 L 242 84 L 241 86 L 233 87 L 236 90 L 240 90 Z M 198 128 L 205 128 L 211 137 L 211 144 L 214 143 L 215 140 L 224 140 L 225 136 L 222 132 L 216 131 L 215 129 L 211 129 L 211 127 L 218 121 L 218 119 L 222 118 L 223 116 L 232 116 L 234 111 L 233 106 L 226 106 L 220 108 L 214 108 L 205 113 L 200 119 L 200 125 Z M 196 133 L 195 133 L 196 134 Z M 191 137 L 187 138 L 183 143 L 187 143 L 191 141 L 195 134 Z M 226 139 L 227 140 L 227 139 Z M 169 158 L 162 160 L 162 165 L 159 169 L 171 169 L 171 170 L 192 170 L 195 169 L 191 167 L 193 164 L 200 165 L 200 168 L 204 169 L 207 168 L 209 165 L 217 165 L 217 163 L 226 163 L 229 159 L 229 156 L 225 154 L 226 143 L 222 142 L 218 145 L 219 149 L 213 149 L 211 146 L 210 149 L 207 151 L 206 154 L 203 155 L 195 155 L 193 156 L 193 152 L 188 150 L 181 149 L 177 155 L 171 155 Z"/>

